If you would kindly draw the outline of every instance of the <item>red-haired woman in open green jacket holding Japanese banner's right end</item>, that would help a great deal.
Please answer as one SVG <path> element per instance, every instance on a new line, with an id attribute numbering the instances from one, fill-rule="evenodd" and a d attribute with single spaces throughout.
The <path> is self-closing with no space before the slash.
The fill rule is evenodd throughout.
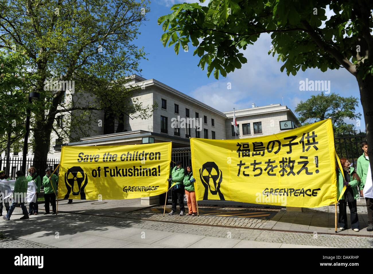
<path id="1" fill-rule="evenodd" d="M 357 185 L 360 182 L 360 177 L 356 173 L 353 167 L 350 167 L 350 161 L 346 158 L 341 158 L 341 165 L 343 171 L 337 170 L 337 192 L 342 192 L 344 186 L 346 190 L 344 195 L 339 200 L 339 229 L 347 229 L 347 204 L 350 208 L 351 228 L 358 232 L 360 230 L 359 218 L 357 216 L 357 204 L 356 199 L 360 198 L 360 194 L 357 191 Z M 342 172 L 344 173 L 345 181 L 343 180 Z"/>

